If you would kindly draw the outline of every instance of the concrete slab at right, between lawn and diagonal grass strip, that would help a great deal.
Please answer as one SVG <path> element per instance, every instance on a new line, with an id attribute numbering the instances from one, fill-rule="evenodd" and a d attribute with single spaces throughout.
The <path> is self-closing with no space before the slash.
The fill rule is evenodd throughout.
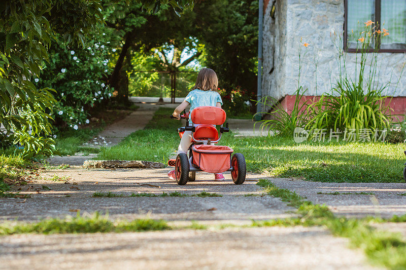
<path id="1" fill-rule="evenodd" d="M 278 187 L 297 192 L 315 204 L 328 205 L 337 216 L 389 218 L 406 214 L 406 196 L 400 195 L 405 194 L 406 183 L 324 183 L 277 178 L 271 181 Z M 327 194 L 334 192 L 340 194 Z"/>

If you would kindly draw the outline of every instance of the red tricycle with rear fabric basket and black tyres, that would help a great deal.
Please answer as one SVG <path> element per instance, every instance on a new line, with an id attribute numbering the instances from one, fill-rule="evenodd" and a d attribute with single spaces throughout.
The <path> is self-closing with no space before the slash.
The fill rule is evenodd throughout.
<path id="1" fill-rule="evenodd" d="M 176 181 L 179 185 L 185 185 L 188 181 L 194 181 L 196 172 L 209 173 L 231 172 L 231 178 L 235 184 L 242 184 L 246 177 L 245 158 L 242 153 L 234 153 L 228 146 L 214 145 L 223 132 L 229 132 L 226 113 L 223 109 L 213 106 L 201 106 L 192 110 L 189 125 L 189 112 L 180 115 L 186 119 L 186 127 L 178 129 L 182 138 L 185 131 L 192 132 L 192 144 L 189 147 L 189 158 L 185 153 L 179 153 L 176 160 L 168 161 L 169 166 L 175 166 Z M 175 118 L 171 115 L 171 118 Z M 195 126 L 197 125 L 197 126 Z M 220 136 L 214 125 L 220 125 Z"/>

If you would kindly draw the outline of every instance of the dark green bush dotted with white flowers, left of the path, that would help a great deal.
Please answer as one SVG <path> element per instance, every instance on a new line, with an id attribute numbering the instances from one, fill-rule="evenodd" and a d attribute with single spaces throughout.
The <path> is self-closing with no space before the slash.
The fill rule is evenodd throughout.
<path id="1" fill-rule="evenodd" d="M 45 63 L 40 78 L 35 78 L 37 87 L 55 89 L 58 101 L 51 111 L 54 129 L 79 126 L 89 123 L 89 109 L 100 105 L 112 96 L 107 78 L 112 71 L 110 63 L 110 41 L 89 40 L 85 47 L 69 48 L 61 41 L 51 45 L 49 63 Z"/>

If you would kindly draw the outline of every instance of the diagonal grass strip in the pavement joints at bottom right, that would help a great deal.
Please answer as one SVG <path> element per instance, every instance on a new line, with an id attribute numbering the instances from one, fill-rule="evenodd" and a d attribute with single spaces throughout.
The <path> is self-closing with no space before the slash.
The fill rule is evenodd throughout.
<path id="1" fill-rule="evenodd" d="M 371 222 L 382 222 L 379 219 L 347 219 L 334 217 L 325 205 L 314 205 L 305 201 L 295 192 L 278 188 L 266 180 L 258 182 L 264 186 L 268 195 L 279 197 L 297 208 L 297 218 L 276 219 L 269 221 L 253 221 L 253 226 L 325 226 L 333 235 L 350 239 L 354 247 L 364 250 L 371 263 L 381 264 L 390 269 L 404 269 L 406 267 L 406 241 L 400 234 L 382 232 L 371 227 Z M 406 215 L 394 216 L 391 222 L 405 222 Z"/>

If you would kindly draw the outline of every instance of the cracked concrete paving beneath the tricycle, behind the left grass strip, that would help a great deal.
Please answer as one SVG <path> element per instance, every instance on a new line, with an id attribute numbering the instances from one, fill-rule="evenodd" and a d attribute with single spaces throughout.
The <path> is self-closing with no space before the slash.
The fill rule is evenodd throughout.
<path id="1" fill-rule="evenodd" d="M 235 185 L 230 173 L 225 181 L 214 181 L 214 175 L 196 173 L 196 181 L 179 186 L 167 177 L 165 169 L 82 169 L 68 168 L 41 173 L 41 180 L 31 182 L 19 190 L 27 199 L 0 198 L 0 220 L 38 220 L 45 217 L 65 217 L 81 213 L 109 213 L 111 219 L 151 218 L 166 220 L 251 220 L 284 218 L 294 215 L 279 198 L 261 196 L 262 187 L 256 185 L 262 175 L 249 174 L 246 182 Z M 54 182 L 54 175 L 69 177 Z M 45 185 L 51 190 L 45 190 Z M 223 197 L 128 197 L 131 194 L 161 195 L 178 191 L 195 195 L 201 191 Z M 38 193 L 40 192 L 40 193 Z M 114 192 L 126 197 L 98 198 L 94 192 Z M 250 195 L 250 196 L 247 196 Z M 68 196 L 68 197 L 66 197 Z M 25 200 L 25 201 L 24 201 Z M 24 201 L 24 203 L 21 203 Z"/>

